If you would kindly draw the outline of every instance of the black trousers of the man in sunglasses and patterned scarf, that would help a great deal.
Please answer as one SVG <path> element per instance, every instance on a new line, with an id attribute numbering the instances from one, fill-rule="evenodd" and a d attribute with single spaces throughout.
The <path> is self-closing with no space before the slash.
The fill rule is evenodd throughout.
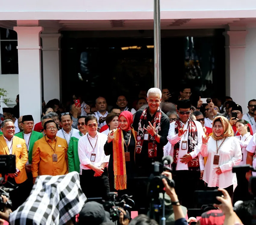
<path id="1" fill-rule="evenodd" d="M 178 170 L 173 175 L 175 191 L 181 205 L 187 209 L 195 209 L 195 190 L 198 189 L 200 171 Z"/>

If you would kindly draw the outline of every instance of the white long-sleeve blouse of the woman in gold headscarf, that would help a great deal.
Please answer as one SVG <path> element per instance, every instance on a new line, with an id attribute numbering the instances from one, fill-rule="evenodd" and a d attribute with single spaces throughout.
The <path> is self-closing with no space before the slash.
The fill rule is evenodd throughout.
<path id="1" fill-rule="evenodd" d="M 222 141 L 217 140 L 218 147 Z M 227 188 L 233 185 L 233 191 L 237 186 L 236 173 L 232 172 L 235 165 L 239 165 L 242 159 L 241 147 L 237 138 L 227 137 L 224 143 L 219 148 L 217 153 L 216 140 L 209 138 L 207 145 L 202 144 L 201 154 L 207 157 L 204 169 L 203 180 L 208 184 L 208 187 Z M 214 165 L 214 155 L 219 155 L 219 164 Z M 217 174 L 217 168 L 220 166 L 221 174 Z"/>

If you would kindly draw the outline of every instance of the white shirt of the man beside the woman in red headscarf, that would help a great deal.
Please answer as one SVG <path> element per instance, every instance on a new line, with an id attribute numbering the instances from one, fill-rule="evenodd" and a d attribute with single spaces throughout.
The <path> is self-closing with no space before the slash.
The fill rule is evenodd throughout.
<path id="1" fill-rule="evenodd" d="M 89 142 L 89 140 L 91 142 Z M 98 138 L 98 141 L 97 141 Z M 83 170 L 91 170 L 86 165 L 93 164 L 94 166 L 100 166 L 102 163 L 109 162 L 109 155 L 106 156 L 104 152 L 104 145 L 108 139 L 107 135 L 97 132 L 97 135 L 92 138 L 88 133 L 79 139 L 78 141 L 78 156 L 80 160 L 80 168 Z M 97 145 L 95 146 L 97 141 Z M 92 146 L 94 148 L 92 148 Z M 91 161 L 92 153 L 96 154 L 95 162 Z"/>

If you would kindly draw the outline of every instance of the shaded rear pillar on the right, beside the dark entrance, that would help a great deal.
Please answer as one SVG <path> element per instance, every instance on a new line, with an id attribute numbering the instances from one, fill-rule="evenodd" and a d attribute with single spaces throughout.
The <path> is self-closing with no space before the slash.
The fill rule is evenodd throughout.
<path id="1" fill-rule="evenodd" d="M 245 82 L 246 30 L 226 31 L 226 95 L 247 111 Z"/>

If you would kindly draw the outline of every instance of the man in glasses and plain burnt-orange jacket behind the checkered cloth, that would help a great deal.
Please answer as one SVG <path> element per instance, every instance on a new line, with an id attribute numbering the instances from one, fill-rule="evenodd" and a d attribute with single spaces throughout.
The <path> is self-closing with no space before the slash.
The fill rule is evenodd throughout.
<path id="1" fill-rule="evenodd" d="M 41 175 L 64 175 L 68 173 L 68 145 L 57 137 L 57 124 L 53 120 L 44 123 L 45 136 L 34 144 L 31 171 L 33 181 Z"/>

